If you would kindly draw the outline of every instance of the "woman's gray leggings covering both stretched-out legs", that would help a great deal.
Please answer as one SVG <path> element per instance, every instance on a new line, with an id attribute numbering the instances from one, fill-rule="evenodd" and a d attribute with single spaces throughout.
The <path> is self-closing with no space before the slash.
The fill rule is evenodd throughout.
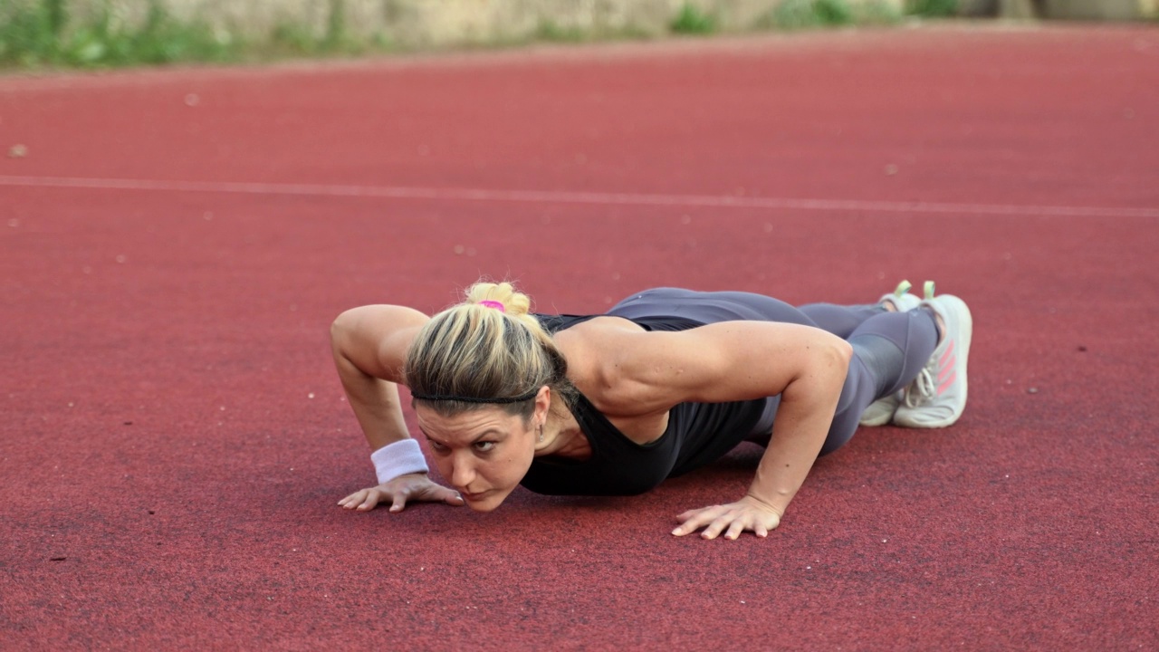
<path id="1" fill-rule="evenodd" d="M 880 304 L 841 306 L 816 303 L 792 305 L 752 292 L 698 292 L 656 288 L 632 295 L 612 306 L 618 317 L 683 317 L 716 321 L 778 321 L 828 331 L 850 342 L 853 358 L 837 403 L 833 425 L 821 449 L 830 454 L 845 445 L 858 429 L 861 413 L 874 400 L 907 385 L 938 346 L 938 325 L 926 310 L 889 312 Z M 749 441 L 767 444 L 780 396 L 766 399 L 765 413 Z"/>

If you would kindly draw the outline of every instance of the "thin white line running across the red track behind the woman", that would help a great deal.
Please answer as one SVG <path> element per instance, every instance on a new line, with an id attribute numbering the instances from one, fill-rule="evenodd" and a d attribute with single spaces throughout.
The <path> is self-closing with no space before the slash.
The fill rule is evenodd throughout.
<path id="1" fill-rule="evenodd" d="M 246 183 L 229 181 L 156 181 L 147 179 L 87 179 L 0 175 L 0 186 L 83 188 L 174 193 L 236 193 L 315 197 L 372 197 L 398 200 L 455 200 L 544 204 L 610 204 L 649 207 L 708 207 L 766 210 L 869 211 L 898 213 L 965 213 L 1051 217 L 1153 217 L 1159 208 L 1110 208 L 1026 204 L 957 204 L 942 202 L 882 202 L 862 200 L 800 200 L 735 197 L 729 195 L 664 195 L 637 193 L 571 193 L 552 190 L 481 190 L 472 188 L 408 188 L 402 186 L 343 186 L 323 183 Z"/>

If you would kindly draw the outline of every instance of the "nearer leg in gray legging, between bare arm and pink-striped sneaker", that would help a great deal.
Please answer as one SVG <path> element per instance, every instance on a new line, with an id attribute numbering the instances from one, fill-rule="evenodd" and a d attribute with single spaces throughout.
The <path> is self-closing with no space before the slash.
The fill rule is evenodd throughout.
<path id="1" fill-rule="evenodd" d="M 848 336 L 853 360 L 821 454 L 845 445 L 866 407 L 907 385 L 938 346 L 938 325 L 926 310 L 887 312 L 867 319 Z"/>

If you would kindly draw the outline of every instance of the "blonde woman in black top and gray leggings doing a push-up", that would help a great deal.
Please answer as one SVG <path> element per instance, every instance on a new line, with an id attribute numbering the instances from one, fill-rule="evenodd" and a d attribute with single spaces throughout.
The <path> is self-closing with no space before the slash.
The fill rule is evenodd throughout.
<path id="1" fill-rule="evenodd" d="M 795 309 L 748 292 L 659 288 L 602 316 L 542 316 L 509 283 L 476 283 L 433 317 L 356 307 L 334 357 L 378 486 L 338 502 L 442 501 L 491 510 L 523 484 L 546 494 L 629 495 L 766 447 L 749 492 L 691 509 L 672 531 L 767 536 L 818 455 L 862 425 L 949 426 L 967 396 L 970 311 L 903 282 L 877 304 Z M 398 385 L 435 464 L 402 419 Z M 775 416 L 775 419 L 774 419 Z"/>

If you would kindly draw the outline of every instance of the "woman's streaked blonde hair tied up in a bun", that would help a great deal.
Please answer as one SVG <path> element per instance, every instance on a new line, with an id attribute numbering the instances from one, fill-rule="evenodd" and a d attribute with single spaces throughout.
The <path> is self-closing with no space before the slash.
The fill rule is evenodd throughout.
<path id="1" fill-rule="evenodd" d="M 567 360 L 530 310 L 531 299 L 509 282 L 468 288 L 466 300 L 432 317 L 407 353 L 415 401 L 447 416 L 498 405 L 526 419 L 547 385 L 570 403 Z"/>

